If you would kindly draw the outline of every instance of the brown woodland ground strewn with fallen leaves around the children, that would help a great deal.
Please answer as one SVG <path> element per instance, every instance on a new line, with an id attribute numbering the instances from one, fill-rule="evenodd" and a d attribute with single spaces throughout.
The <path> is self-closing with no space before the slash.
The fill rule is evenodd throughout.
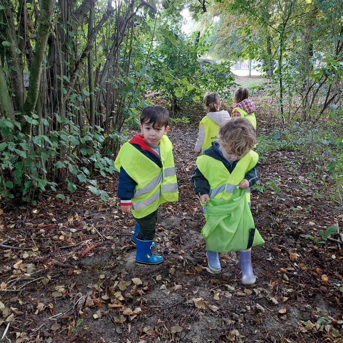
<path id="1" fill-rule="evenodd" d="M 277 132 L 274 103 L 263 93 L 252 99 L 258 135 Z M 118 175 L 98 180 L 110 202 L 79 188 L 65 193 L 69 204 L 48 195 L 33 208 L 4 210 L 3 342 L 343 342 L 343 244 L 302 236 L 342 228 L 342 207 L 308 176 L 320 166 L 306 149 L 257 146 L 260 188 L 252 191 L 251 210 L 266 243 L 252 250 L 256 284 L 241 284 L 237 253 L 222 254 L 220 274 L 209 271 L 191 184 L 204 114 L 194 107 L 189 124 L 171 124 L 180 200 L 160 209 L 160 266 L 135 264 L 134 219 L 120 212 Z"/>

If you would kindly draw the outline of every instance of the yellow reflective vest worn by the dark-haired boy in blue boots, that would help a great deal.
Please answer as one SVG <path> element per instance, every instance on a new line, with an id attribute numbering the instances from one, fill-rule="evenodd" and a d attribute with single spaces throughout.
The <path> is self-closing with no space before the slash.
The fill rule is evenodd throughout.
<path id="1" fill-rule="evenodd" d="M 117 171 L 123 167 L 137 183 L 131 199 L 135 218 L 143 218 L 161 204 L 179 198 L 171 141 L 166 135 L 162 136 L 159 148 L 162 168 L 129 142 L 123 144 L 114 161 Z"/>

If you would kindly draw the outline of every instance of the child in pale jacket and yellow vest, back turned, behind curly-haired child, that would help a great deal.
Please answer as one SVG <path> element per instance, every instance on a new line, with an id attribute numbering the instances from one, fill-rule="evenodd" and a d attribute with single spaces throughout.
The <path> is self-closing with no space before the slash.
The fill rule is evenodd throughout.
<path id="1" fill-rule="evenodd" d="M 194 150 L 204 152 L 217 140 L 219 126 L 230 119 L 228 111 L 220 110 L 220 100 L 216 93 L 207 92 L 204 95 L 204 106 L 209 113 L 199 123 L 198 140 Z"/>

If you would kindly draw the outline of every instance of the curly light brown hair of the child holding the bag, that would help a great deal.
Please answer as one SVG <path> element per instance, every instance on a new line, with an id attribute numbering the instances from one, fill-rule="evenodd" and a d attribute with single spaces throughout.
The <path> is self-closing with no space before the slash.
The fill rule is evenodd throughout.
<path id="1" fill-rule="evenodd" d="M 218 141 L 227 152 L 242 156 L 256 144 L 255 129 L 248 119 L 233 117 L 220 126 Z"/>

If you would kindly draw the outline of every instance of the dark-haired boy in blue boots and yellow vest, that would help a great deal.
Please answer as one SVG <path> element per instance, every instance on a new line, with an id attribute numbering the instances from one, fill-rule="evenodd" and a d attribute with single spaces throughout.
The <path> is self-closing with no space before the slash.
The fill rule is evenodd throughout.
<path id="1" fill-rule="evenodd" d="M 132 212 L 135 230 L 136 263 L 159 265 L 163 256 L 152 255 L 151 248 L 158 207 L 178 200 L 178 188 L 169 131 L 169 112 L 162 106 L 143 109 L 140 116 L 141 134 L 123 144 L 114 166 L 120 171 L 118 197 L 123 213 Z"/>

